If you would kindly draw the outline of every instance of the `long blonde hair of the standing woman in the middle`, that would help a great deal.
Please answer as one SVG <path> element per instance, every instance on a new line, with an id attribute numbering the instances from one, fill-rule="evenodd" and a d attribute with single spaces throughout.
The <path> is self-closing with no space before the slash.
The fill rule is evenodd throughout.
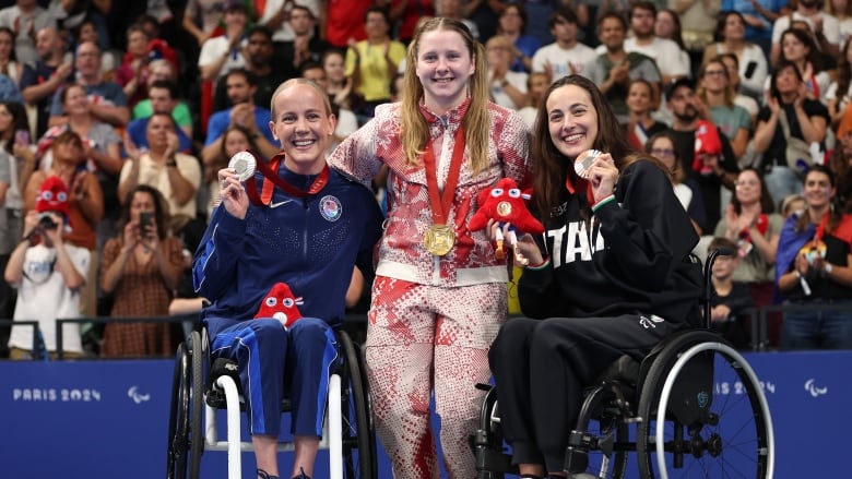
<path id="1" fill-rule="evenodd" d="M 490 137 L 485 50 L 482 44 L 473 39 L 471 31 L 457 20 L 429 19 L 417 28 L 411 45 L 409 45 L 405 61 L 405 86 L 402 94 L 402 131 L 400 132 L 402 151 L 410 164 L 416 164 L 417 157 L 423 154 L 426 143 L 429 141 L 429 124 L 419 110 L 419 100 L 423 98 L 424 91 L 419 77 L 417 77 L 416 68 L 421 38 L 425 33 L 436 31 L 455 32 L 461 35 L 474 62 L 474 72 L 468 86 L 471 103 L 462 125 L 464 127 L 464 140 L 472 169 L 474 173 L 480 173 L 488 165 L 488 139 Z"/>

